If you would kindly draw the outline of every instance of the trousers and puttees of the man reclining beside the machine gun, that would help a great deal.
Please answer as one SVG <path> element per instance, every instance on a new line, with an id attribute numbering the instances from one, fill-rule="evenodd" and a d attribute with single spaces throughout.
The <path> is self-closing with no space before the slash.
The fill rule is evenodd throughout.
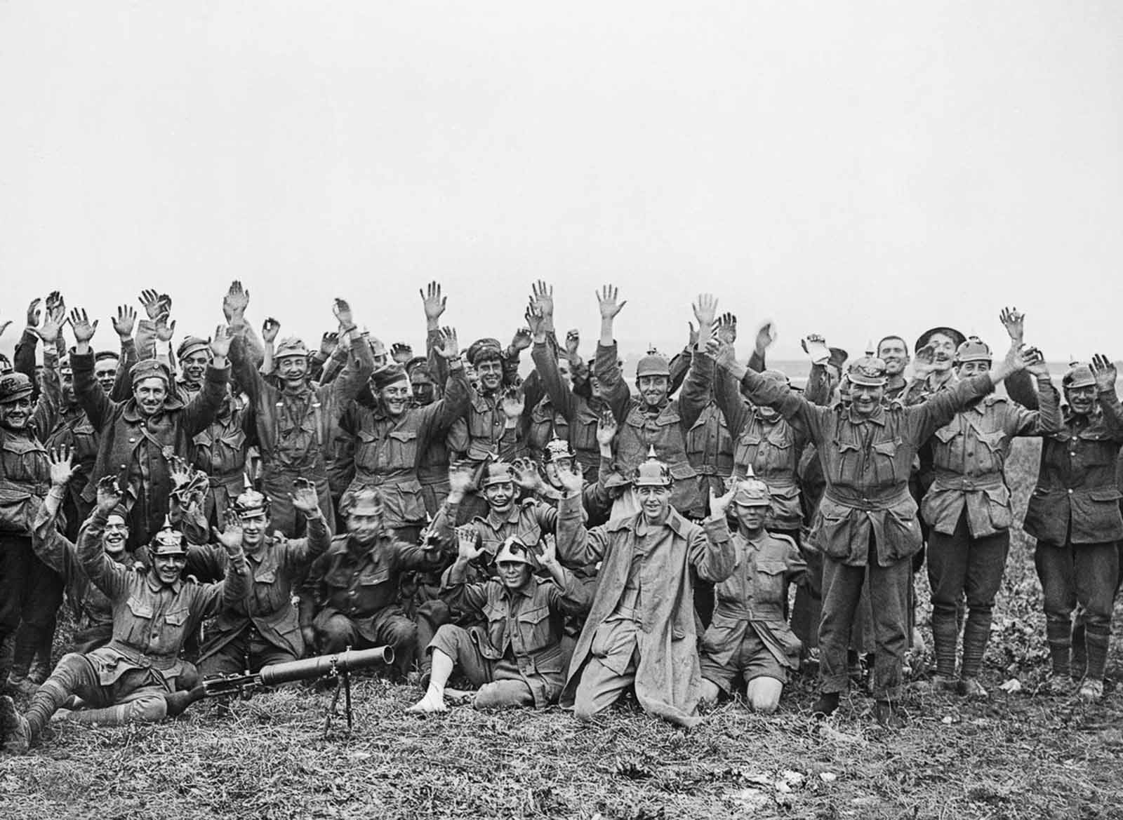
<path id="1" fill-rule="evenodd" d="M 85 655 L 63 655 L 55 671 L 31 695 L 25 717 L 35 738 L 65 706 L 77 695 L 86 708 L 71 718 L 81 722 L 120 726 L 137 720 L 161 720 L 167 715 L 165 697 L 171 690 L 163 675 L 150 669 L 125 672 L 112 683 L 103 684 Z"/>

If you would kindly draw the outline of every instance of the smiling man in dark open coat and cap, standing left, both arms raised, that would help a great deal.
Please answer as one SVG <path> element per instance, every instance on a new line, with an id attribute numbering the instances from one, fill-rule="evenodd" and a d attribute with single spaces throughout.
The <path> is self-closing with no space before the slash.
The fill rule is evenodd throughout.
<path id="1" fill-rule="evenodd" d="M 93 377 L 90 339 L 98 323 L 85 311 L 71 312 L 76 347 L 71 354 L 74 391 L 90 422 L 100 432 L 98 459 L 83 497 L 92 500 L 95 483 L 106 476 L 120 479 L 129 509 L 133 544 L 146 542 L 167 516 L 171 490 L 170 460 L 188 455 L 191 439 L 214 420 L 229 378 L 226 353 L 230 335 L 226 326 L 214 330 L 210 342 L 213 359 L 203 389 L 184 404 L 171 389 L 167 368 L 154 359 L 131 369 L 133 398 L 113 402 Z"/>

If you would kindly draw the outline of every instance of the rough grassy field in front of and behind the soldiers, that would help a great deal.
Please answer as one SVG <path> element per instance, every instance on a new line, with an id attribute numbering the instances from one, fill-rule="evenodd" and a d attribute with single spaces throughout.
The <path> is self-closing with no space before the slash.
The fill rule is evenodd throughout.
<path id="1" fill-rule="evenodd" d="M 1035 444 L 1019 443 L 1011 470 L 1020 518 Z M 928 639 L 926 606 L 920 620 Z M 230 716 L 201 704 L 157 726 L 55 727 L 27 757 L 0 759 L 0 818 L 1120 818 L 1119 645 L 1102 703 L 1035 692 L 1043 618 L 1017 532 L 990 700 L 917 681 L 903 731 L 877 728 L 858 693 L 816 724 L 805 679 L 777 715 L 730 702 L 690 733 L 627 704 L 594 726 L 557 709 L 407 716 L 419 692 L 364 680 L 351 735 L 337 721 L 325 736 L 330 695 L 303 691 L 238 701 Z M 1014 679 L 1021 691 L 998 689 Z"/>

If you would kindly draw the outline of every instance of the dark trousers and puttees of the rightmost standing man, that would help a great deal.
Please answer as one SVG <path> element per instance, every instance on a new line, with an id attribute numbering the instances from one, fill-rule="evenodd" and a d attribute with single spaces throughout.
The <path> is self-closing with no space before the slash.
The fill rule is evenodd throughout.
<path id="1" fill-rule="evenodd" d="M 1046 638 L 1053 674 L 1071 674 L 1075 654 L 1086 657 L 1085 674 L 1089 679 L 1103 680 L 1120 563 L 1115 542 L 1054 546 L 1039 541 L 1033 563 L 1044 598 Z M 1084 646 L 1074 645 L 1080 637 L 1074 641 L 1071 616 L 1077 606 Z"/>

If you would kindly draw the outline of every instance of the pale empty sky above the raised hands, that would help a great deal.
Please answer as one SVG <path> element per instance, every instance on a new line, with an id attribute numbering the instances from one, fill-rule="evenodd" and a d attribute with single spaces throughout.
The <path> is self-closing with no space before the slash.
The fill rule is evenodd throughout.
<path id="1" fill-rule="evenodd" d="M 345 295 L 420 342 L 437 278 L 464 345 L 530 283 L 626 345 L 719 295 L 777 358 L 1016 304 L 1053 360 L 1123 357 L 1123 3 L 0 2 L 0 316 L 141 287 L 179 332 L 312 340 Z"/>

